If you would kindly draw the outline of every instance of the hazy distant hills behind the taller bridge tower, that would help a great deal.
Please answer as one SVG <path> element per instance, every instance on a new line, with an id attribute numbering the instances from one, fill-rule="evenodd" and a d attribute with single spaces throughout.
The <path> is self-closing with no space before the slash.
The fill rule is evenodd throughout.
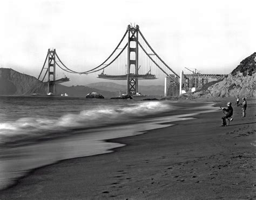
<path id="1" fill-rule="evenodd" d="M 90 83 L 85 86 L 90 88 L 96 88 L 101 90 L 113 91 L 113 92 L 126 92 L 126 85 L 121 85 L 112 82 L 98 82 Z M 139 85 L 139 92 L 143 95 L 164 95 L 164 85 Z"/>

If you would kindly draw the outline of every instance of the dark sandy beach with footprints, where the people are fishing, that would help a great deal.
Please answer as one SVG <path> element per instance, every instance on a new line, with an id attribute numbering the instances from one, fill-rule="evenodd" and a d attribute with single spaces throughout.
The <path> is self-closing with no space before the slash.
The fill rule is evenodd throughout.
<path id="1" fill-rule="evenodd" d="M 0 199 L 255 199 L 256 104 L 233 107 L 230 126 L 220 111 L 113 139 L 127 146 L 37 169 Z"/>

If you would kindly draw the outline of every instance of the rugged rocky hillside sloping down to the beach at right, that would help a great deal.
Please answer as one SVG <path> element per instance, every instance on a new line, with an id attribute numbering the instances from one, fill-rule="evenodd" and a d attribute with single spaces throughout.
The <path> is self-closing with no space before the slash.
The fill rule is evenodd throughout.
<path id="1" fill-rule="evenodd" d="M 256 53 L 240 62 L 231 74 L 204 91 L 195 92 L 194 96 L 210 95 L 214 97 L 256 97 L 255 94 Z"/>

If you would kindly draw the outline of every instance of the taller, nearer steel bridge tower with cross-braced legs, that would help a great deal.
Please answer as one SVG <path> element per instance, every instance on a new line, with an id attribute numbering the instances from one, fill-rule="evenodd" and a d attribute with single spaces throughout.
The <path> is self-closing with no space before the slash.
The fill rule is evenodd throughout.
<path id="1" fill-rule="evenodd" d="M 138 31 L 139 26 L 127 27 L 128 35 L 128 55 L 127 55 L 127 91 L 126 95 L 136 94 L 138 92 L 138 79 L 130 77 L 131 68 L 134 67 L 134 72 L 138 75 L 138 58 L 139 58 L 139 49 L 138 49 Z M 135 43 L 135 44 L 134 44 Z M 134 52 L 135 56 L 131 56 L 131 53 Z M 134 54 L 133 54 L 134 55 Z M 131 58 L 132 57 L 132 58 Z M 134 60 L 135 59 L 135 60 Z"/>

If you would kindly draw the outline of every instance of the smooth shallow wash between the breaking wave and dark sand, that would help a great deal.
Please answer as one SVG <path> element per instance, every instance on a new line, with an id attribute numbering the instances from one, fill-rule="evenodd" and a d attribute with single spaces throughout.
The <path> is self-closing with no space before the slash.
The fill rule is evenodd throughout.
<path id="1" fill-rule="evenodd" d="M 92 127 L 90 130 L 86 130 L 84 128 L 76 128 L 76 132 L 72 132 L 71 135 L 62 134 L 62 137 L 60 138 L 53 137 L 49 139 L 46 135 L 45 139 L 41 138 L 38 141 L 35 140 L 33 142 L 32 140 L 28 140 L 26 141 L 27 144 L 19 142 L 18 146 L 10 146 L 10 149 L 2 148 L 1 152 L 5 160 L 2 160 L 2 163 L 0 163 L 0 168 L 2 167 L 2 172 L 0 174 L 0 191 L 11 188 L 12 185 L 15 185 L 19 179 L 29 174 L 31 170 L 53 165 L 54 163 L 60 162 L 62 160 L 111 153 L 113 152 L 112 149 L 124 146 L 122 143 L 110 142 L 109 140 L 111 139 L 144 134 L 150 130 L 172 126 L 174 124 L 171 123 L 178 122 L 179 120 L 194 119 L 193 117 L 199 115 L 201 112 L 216 111 L 212 103 L 205 103 L 199 108 L 200 111 L 198 110 L 197 112 L 194 111 L 194 109 L 185 109 L 185 112 L 181 109 L 180 112 L 180 109 L 177 110 L 176 108 L 171 110 L 173 111 L 172 113 L 166 114 L 166 112 L 164 112 L 158 113 L 157 116 L 151 118 L 138 118 L 137 122 L 132 121 L 132 123 L 134 123 L 132 125 L 127 123 L 120 123 L 116 124 L 114 127 Z M 179 112 L 179 115 L 177 115 L 177 112 Z M 104 131 L 102 128 L 104 128 Z M 102 131 L 103 134 L 100 133 Z M 65 148 L 66 144 L 69 144 L 68 149 L 67 147 Z M 84 148 L 83 146 L 87 147 Z M 58 153 L 56 148 L 61 148 L 62 151 Z M 29 152 L 34 152 L 33 154 L 35 155 L 30 159 L 23 158 L 24 156 L 19 158 L 18 155 L 21 152 L 27 152 L 26 156 L 29 157 L 31 156 Z M 12 155 L 12 157 L 8 162 L 9 155 Z M 38 160 L 38 158 L 41 156 L 45 158 Z M 23 161 L 23 159 L 26 160 Z"/>

